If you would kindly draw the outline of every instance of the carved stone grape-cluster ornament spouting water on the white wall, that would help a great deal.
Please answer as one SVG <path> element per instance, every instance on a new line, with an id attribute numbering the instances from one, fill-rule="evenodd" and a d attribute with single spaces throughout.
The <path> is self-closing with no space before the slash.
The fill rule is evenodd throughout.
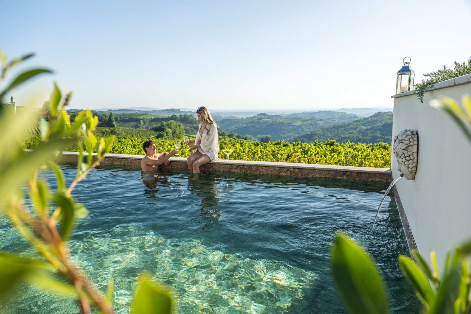
<path id="1" fill-rule="evenodd" d="M 414 180 L 417 171 L 419 139 L 417 130 L 402 130 L 394 137 L 393 151 L 398 160 L 398 170 L 407 180 Z"/>

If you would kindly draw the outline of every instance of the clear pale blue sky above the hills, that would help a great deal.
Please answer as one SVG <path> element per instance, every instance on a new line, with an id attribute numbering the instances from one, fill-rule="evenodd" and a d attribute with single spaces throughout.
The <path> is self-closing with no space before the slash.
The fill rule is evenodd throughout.
<path id="1" fill-rule="evenodd" d="M 392 107 L 405 56 L 416 81 L 471 56 L 470 0 L 0 0 L 0 11 L 8 59 L 35 52 L 23 68 L 55 72 L 14 90 L 17 105 L 42 105 L 57 81 L 73 108 Z"/>

